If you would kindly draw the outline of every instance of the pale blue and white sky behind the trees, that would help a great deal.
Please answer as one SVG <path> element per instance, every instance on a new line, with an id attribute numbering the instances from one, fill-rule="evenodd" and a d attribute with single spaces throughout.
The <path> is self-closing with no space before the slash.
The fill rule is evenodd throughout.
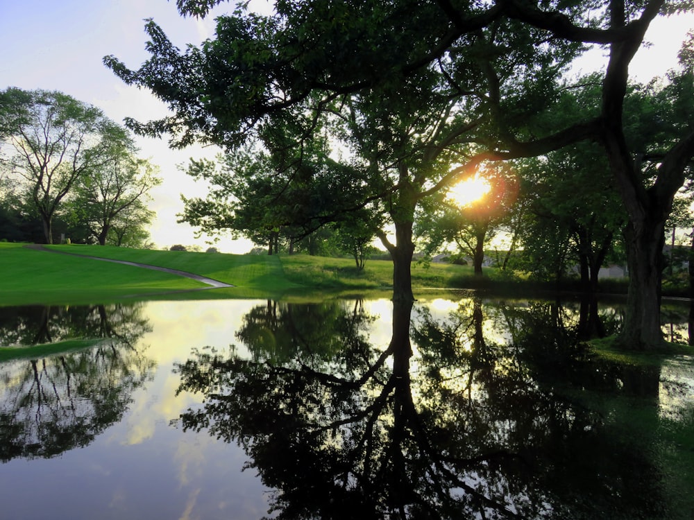
<path id="1" fill-rule="evenodd" d="M 268 12 L 269 0 L 253 0 L 256 10 Z M 197 45 L 214 36 L 215 15 L 228 12 L 232 4 L 221 3 L 201 21 L 178 15 L 174 0 L 0 0 L 0 89 L 44 89 L 65 92 L 79 101 L 99 107 L 106 116 L 121 123 L 126 116 L 149 121 L 166 114 L 166 107 L 136 87 L 128 87 L 104 67 L 105 55 L 115 55 L 130 69 L 149 58 L 144 46 L 144 19 L 153 18 L 176 46 Z M 654 21 L 646 40 L 632 62 L 639 81 L 661 76 L 677 63 L 679 44 L 694 29 L 694 16 Z M 602 52 L 591 53 L 580 62 L 584 72 L 600 67 Z M 180 194 L 205 196 L 203 183 L 196 183 L 178 165 L 189 157 L 214 157 L 219 151 L 195 146 L 170 150 L 167 141 L 137 137 L 139 157 L 160 167 L 162 185 L 151 195 L 150 207 L 157 213 L 151 237 L 158 248 L 174 244 L 208 247 L 205 238 L 196 240 L 194 229 L 177 223 L 183 211 Z M 223 238 L 215 245 L 221 252 L 248 252 L 246 240 Z"/>

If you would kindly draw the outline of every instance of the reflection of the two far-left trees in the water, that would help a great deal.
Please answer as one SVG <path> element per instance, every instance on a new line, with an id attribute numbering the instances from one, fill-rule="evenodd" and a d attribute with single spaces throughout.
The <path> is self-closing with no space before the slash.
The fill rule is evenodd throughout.
<path id="1" fill-rule="evenodd" d="M 85 447 L 118 422 L 154 363 L 135 343 L 151 331 L 142 306 L 30 307 L 0 316 L 12 343 L 103 338 L 79 352 L 0 365 L 0 460 L 52 457 Z"/>

